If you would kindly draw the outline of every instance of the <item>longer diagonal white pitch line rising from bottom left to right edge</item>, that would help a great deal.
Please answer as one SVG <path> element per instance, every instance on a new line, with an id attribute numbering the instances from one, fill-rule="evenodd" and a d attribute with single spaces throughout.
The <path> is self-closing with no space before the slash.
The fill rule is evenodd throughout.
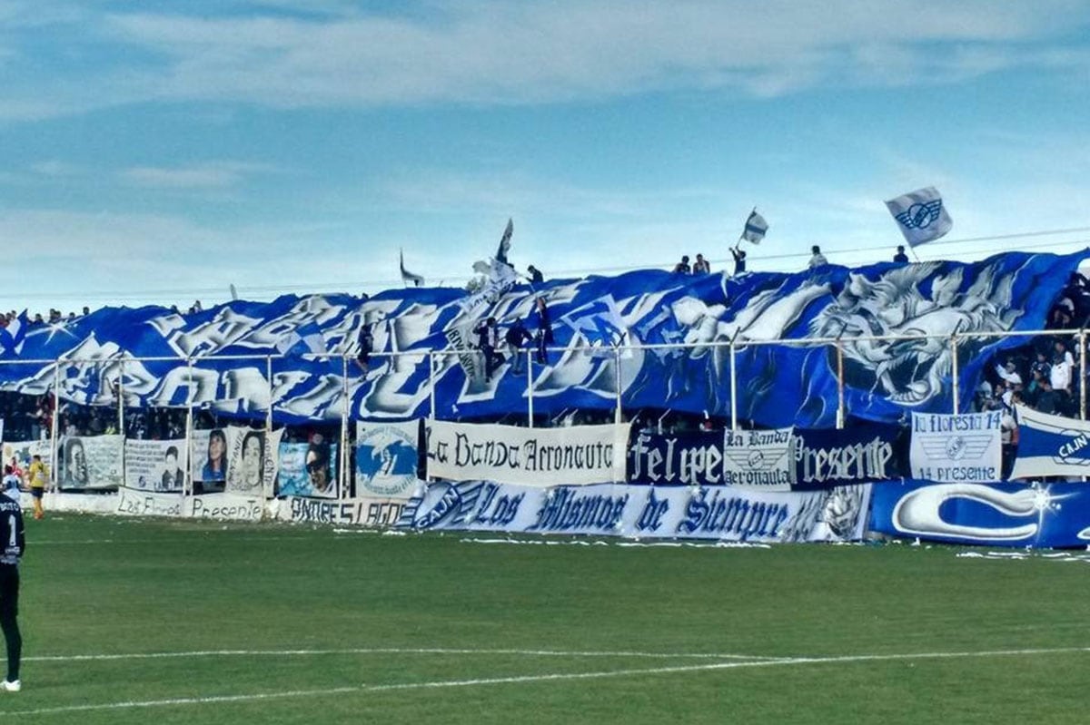
<path id="1" fill-rule="evenodd" d="M 254 695 L 225 695 L 206 698 L 170 698 L 165 700 L 138 700 L 123 702 L 102 702 L 97 704 L 62 705 L 58 708 L 40 708 L 37 710 L 21 710 L 2 713 L 5 715 L 49 715 L 66 712 L 86 712 L 92 710 L 123 710 L 136 708 L 162 708 L 171 705 L 216 704 L 230 702 L 254 702 L 284 698 L 313 697 L 316 695 L 342 695 L 387 692 L 392 690 L 425 690 L 449 687 L 480 687 L 485 685 L 509 685 L 519 683 L 544 683 L 578 679 L 601 679 L 606 677 L 627 677 L 640 675 L 662 675 L 683 672 L 707 672 L 715 669 L 740 669 L 743 667 L 775 667 L 783 665 L 807 664 L 844 664 L 855 662 L 885 662 L 897 660 L 949 660 L 959 658 L 997 658 L 1026 656 L 1037 654 L 1061 654 L 1071 652 L 1090 652 L 1090 647 L 1062 647 L 1054 649 L 1027 650 L 986 650 L 982 652 L 918 652 L 909 654 L 848 654 L 831 658 L 785 658 L 777 660 L 761 660 L 752 662 L 714 662 L 708 664 L 677 665 L 669 667 L 649 667 L 643 669 L 606 669 L 602 672 L 583 673 L 546 673 L 541 675 L 517 675 L 510 677 L 487 677 L 479 679 L 444 679 L 428 683 L 395 683 L 390 685 L 360 685 L 358 687 L 334 687 L 314 690 L 288 690 L 282 692 L 258 692 Z"/>

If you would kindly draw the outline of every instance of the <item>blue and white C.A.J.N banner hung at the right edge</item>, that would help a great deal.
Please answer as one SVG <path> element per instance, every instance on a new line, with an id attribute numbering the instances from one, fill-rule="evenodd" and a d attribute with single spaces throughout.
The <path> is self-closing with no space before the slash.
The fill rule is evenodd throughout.
<path id="1" fill-rule="evenodd" d="M 1017 406 L 1018 454 L 1010 478 L 1090 476 L 1090 421 Z"/>

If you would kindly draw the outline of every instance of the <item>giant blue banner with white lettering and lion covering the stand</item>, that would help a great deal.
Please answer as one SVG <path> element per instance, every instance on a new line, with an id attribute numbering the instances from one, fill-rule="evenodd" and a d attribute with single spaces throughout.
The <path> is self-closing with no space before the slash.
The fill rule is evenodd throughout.
<path id="1" fill-rule="evenodd" d="M 957 388 L 961 408 L 968 409 L 982 366 L 996 352 L 1025 344 L 1017 336 L 980 333 L 1043 329 L 1049 309 L 1087 256 L 1009 253 L 972 263 L 828 265 L 737 277 L 640 270 L 533 287 L 497 277 L 501 283 L 472 298 L 456 287 L 407 288 L 368 299 L 234 300 L 191 315 L 161 307 L 106 308 L 5 339 L 0 354 L 28 362 L 0 366 L 0 388 L 41 394 L 57 379 L 64 400 L 116 405 L 113 385 L 120 380 L 126 405 L 191 401 L 250 419 L 263 418 L 271 406 L 274 420 L 283 423 L 339 420 L 346 405 L 352 419 L 421 418 L 434 393 L 434 417 L 496 418 L 525 413 L 526 374 L 505 360 L 486 377 L 480 353 L 470 348 L 473 328 L 494 317 L 504 332 L 518 318 L 535 331 L 542 298 L 557 349 L 533 370 L 537 414 L 611 410 L 619 394 L 628 409 L 725 416 L 734 360 L 742 419 L 764 428 L 832 428 L 838 409 L 833 346 L 746 345 L 824 336 L 840 341 L 847 409 L 895 422 L 906 410 L 954 409 L 953 349 L 944 339 L 955 330 L 972 333 L 958 341 Z M 340 359 L 310 355 L 323 347 L 353 355 L 364 324 L 374 334 L 366 377 L 350 364 L 346 381 Z M 919 333 L 934 336 L 911 337 Z M 896 339 L 872 339 L 877 335 Z M 610 346 L 618 341 L 691 347 L 615 354 Z M 426 355 L 444 349 L 452 354 L 432 360 Z M 29 360 L 63 361 L 57 370 L 51 362 Z"/>

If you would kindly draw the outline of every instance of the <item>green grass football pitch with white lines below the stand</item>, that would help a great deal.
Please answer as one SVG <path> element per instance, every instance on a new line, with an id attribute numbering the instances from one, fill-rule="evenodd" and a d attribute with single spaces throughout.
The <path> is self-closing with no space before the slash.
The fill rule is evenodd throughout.
<path id="1" fill-rule="evenodd" d="M 78 515 L 27 539 L 24 689 L 0 720 L 1090 717 L 1086 562 Z"/>

